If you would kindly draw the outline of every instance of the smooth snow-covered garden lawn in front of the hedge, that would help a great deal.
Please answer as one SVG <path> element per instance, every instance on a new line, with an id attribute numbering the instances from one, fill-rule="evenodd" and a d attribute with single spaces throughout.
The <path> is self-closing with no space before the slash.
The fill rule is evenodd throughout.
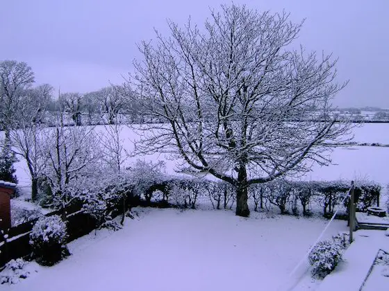
<path id="1" fill-rule="evenodd" d="M 135 211 L 139 217 L 127 219 L 124 229 L 79 238 L 65 261 L 38 266 L 29 278 L 0 289 L 277 290 L 328 222 L 269 213 L 245 219 L 232 211 Z M 345 221 L 333 221 L 324 238 L 339 231 L 347 231 Z"/>

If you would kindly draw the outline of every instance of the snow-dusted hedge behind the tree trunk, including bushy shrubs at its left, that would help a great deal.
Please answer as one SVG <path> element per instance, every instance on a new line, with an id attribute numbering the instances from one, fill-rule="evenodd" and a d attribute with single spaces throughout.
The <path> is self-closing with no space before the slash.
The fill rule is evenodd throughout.
<path id="1" fill-rule="evenodd" d="M 226 182 L 211 182 L 199 177 L 166 175 L 163 163 L 136 161 L 119 175 L 111 173 L 88 175 L 80 180 L 84 190 L 77 191 L 78 202 L 83 211 L 90 214 L 97 227 L 118 213 L 124 213 L 126 203 L 141 201 L 145 206 L 179 206 L 195 209 L 199 201 L 208 200 L 213 209 L 231 209 L 235 204 L 235 188 Z M 309 181 L 296 182 L 276 179 L 264 184 L 249 186 L 249 206 L 254 204 L 254 211 L 269 209 L 271 205 L 279 208 L 281 213 L 298 215 L 310 214 L 311 204 L 321 206 L 324 216 L 333 215 L 349 191 L 349 181 Z M 80 186 L 76 188 L 82 188 Z M 381 186 L 374 182 L 356 182 L 358 210 L 364 211 L 368 206 L 376 206 Z M 129 202 L 129 204 L 131 204 Z M 133 205 L 131 205 L 133 206 Z M 389 205 L 388 205 L 389 206 Z M 122 207 L 122 208 L 121 208 Z"/>

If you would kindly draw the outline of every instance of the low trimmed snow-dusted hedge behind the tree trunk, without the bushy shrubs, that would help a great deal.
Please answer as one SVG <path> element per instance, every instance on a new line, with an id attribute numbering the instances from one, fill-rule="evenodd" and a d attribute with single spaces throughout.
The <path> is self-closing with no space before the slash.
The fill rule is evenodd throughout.
<path id="1" fill-rule="evenodd" d="M 332 215 L 345 194 L 349 191 L 349 181 L 292 182 L 275 180 L 249 187 L 249 202 L 254 211 L 277 206 L 281 213 L 309 214 L 312 203 L 322 206 L 323 215 Z M 375 182 L 356 182 L 354 194 L 356 209 L 367 211 L 367 207 L 379 204 L 381 185 Z M 172 178 L 158 181 L 138 193 L 146 204 L 159 203 L 161 206 L 179 206 L 195 209 L 198 201 L 208 198 L 214 209 L 231 209 L 235 202 L 235 189 L 226 182 L 211 182 L 206 179 Z M 344 205 L 347 209 L 349 197 Z"/>

